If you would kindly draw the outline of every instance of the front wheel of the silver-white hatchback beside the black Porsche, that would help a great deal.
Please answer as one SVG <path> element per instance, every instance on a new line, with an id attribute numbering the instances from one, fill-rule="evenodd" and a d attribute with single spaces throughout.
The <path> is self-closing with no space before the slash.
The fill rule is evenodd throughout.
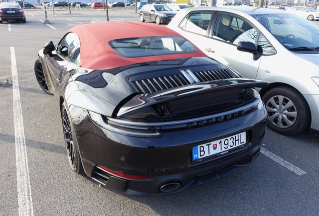
<path id="1" fill-rule="evenodd" d="M 310 124 L 311 114 L 307 101 L 295 88 L 274 87 L 262 98 L 268 112 L 267 126 L 283 135 L 294 135 Z"/>

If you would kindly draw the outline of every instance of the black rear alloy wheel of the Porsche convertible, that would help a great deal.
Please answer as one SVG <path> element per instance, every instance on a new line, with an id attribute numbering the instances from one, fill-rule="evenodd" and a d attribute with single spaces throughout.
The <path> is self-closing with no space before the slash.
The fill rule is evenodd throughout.
<path id="1" fill-rule="evenodd" d="M 82 162 L 79 154 L 79 149 L 77 146 L 76 138 L 73 134 L 74 127 L 70 121 L 69 112 L 67 110 L 67 104 L 64 101 L 61 109 L 62 125 L 64 132 L 64 140 L 67 150 L 67 155 L 69 158 L 69 163 L 72 170 L 78 174 L 83 173 Z"/>

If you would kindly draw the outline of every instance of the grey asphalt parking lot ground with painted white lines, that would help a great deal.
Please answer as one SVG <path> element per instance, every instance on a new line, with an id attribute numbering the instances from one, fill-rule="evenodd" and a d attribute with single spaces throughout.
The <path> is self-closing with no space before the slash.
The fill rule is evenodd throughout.
<path id="1" fill-rule="evenodd" d="M 319 215 L 319 136 L 308 130 L 267 129 L 250 166 L 174 195 L 123 195 L 73 173 L 57 101 L 38 85 L 34 62 L 46 42 L 106 12 L 48 9 L 47 24 L 43 10 L 25 13 L 26 23 L 0 24 L 0 215 Z M 109 10 L 109 20 L 139 21 L 138 10 Z"/>

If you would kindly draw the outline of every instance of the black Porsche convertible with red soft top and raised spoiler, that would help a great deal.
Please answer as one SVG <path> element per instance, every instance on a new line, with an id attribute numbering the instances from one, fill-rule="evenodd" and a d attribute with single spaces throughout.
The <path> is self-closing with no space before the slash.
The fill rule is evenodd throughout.
<path id="1" fill-rule="evenodd" d="M 38 55 L 36 79 L 58 101 L 71 169 L 100 185 L 167 195 L 259 154 L 267 112 L 254 87 L 268 83 L 242 78 L 165 26 L 78 25 Z"/>

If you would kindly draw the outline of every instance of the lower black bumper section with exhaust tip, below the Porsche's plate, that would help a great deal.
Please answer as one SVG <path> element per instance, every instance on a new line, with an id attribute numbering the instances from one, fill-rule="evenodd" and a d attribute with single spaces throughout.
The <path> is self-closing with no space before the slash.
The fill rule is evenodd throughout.
<path id="1" fill-rule="evenodd" d="M 260 140 L 261 141 L 261 140 Z M 199 186 L 208 183 L 218 178 L 231 174 L 240 168 L 246 167 L 260 153 L 260 143 L 248 151 L 235 155 L 232 158 L 227 158 L 219 161 L 215 165 L 207 165 L 202 168 L 190 170 L 170 175 L 150 176 L 146 180 L 124 179 L 117 176 L 112 176 L 105 181 L 99 178 L 98 175 L 93 175 L 92 178 L 100 184 L 105 185 L 116 191 L 137 196 L 158 196 L 169 195 L 181 192 L 185 189 Z M 223 167 L 219 167 L 223 163 Z M 215 169 L 216 168 L 216 169 Z M 96 168 L 94 171 L 97 171 Z M 170 187 L 171 185 L 174 188 Z M 164 191 L 161 191 L 161 188 Z M 172 188 L 172 191 L 170 189 Z M 167 191 L 165 191 L 167 190 Z"/>

